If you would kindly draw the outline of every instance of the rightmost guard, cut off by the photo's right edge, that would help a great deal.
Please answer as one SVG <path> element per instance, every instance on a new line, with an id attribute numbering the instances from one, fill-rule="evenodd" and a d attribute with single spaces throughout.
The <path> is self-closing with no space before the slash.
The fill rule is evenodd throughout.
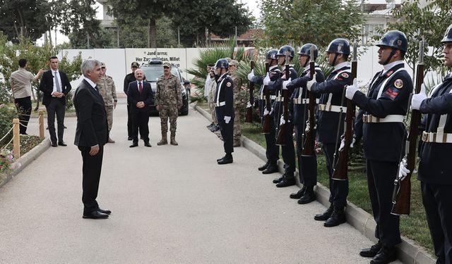
<path id="1" fill-rule="evenodd" d="M 449 74 L 433 87 L 429 98 L 422 89 L 411 107 L 425 114 L 417 179 L 432 236 L 436 263 L 452 263 L 452 25 L 441 40 Z M 424 88 L 424 87 L 423 87 Z M 403 164 L 400 165 L 403 168 Z M 405 168 L 406 172 L 410 172 Z"/>

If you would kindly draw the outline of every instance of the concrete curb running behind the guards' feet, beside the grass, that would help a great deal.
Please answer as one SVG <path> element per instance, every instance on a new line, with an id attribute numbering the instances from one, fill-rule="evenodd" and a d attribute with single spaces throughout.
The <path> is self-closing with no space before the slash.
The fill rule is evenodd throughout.
<path id="1" fill-rule="evenodd" d="M 203 108 L 198 106 L 193 106 L 196 111 L 201 113 L 206 119 L 211 121 L 210 113 L 205 111 Z M 244 136 L 240 139 L 242 142 L 242 146 L 245 149 L 248 149 L 251 153 L 261 158 L 263 161 L 266 161 L 266 150 L 251 141 Z M 283 172 L 283 162 L 278 161 L 278 168 L 280 172 Z M 298 175 L 298 172 L 295 172 L 295 175 Z M 300 187 L 300 183 L 297 179 L 297 185 Z M 316 191 L 316 199 L 319 203 L 323 204 L 323 206 L 330 206 L 330 202 L 328 198 L 330 196 L 330 191 L 328 188 L 324 187 L 322 184 L 317 182 L 317 186 L 314 189 Z M 375 227 L 376 222 L 372 215 L 367 213 L 362 208 L 355 206 L 355 204 L 347 201 L 347 210 L 345 210 L 347 215 L 347 222 L 355 227 L 356 230 L 364 234 L 365 237 L 370 239 L 371 241 L 376 242 L 375 238 Z M 359 249 L 357 249 L 358 251 Z M 434 264 L 436 260 L 431 256 L 427 251 L 425 251 L 422 246 L 416 244 L 415 241 L 408 239 L 406 237 L 402 237 L 402 243 L 398 245 L 398 259 L 403 261 L 403 263 L 412 263 L 412 264 Z"/>

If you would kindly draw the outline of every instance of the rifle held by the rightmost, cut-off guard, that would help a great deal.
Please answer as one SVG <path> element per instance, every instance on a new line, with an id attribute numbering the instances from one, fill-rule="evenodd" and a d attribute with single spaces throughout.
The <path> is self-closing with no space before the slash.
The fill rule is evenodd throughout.
<path id="1" fill-rule="evenodd" d="M 424 40 L 419 42 L 419 63 L 416 68 L 416 94 L 421 91 L 422 82 L 424 82 Z M 411 103 L 411 96 L 408 103 Z M 409 105 L 408 105 L 408 108 Z M 406 168 L 410 170 L 403 180 L 399 180 L 396 176 L 394 180 L 393 189 L 393 215 L 410 215 L 410 200 L 411 200 L 411 175 L 415 170 L 416 165 L 416 146 L 417 134 L 419 133 L 419 125 L 421 122 L 421 113 L 419 110 L 411 110 L 410 131 L 408 132 L 407 142 L 405 143 L 405 157 L 403 162 L 406 163 Z"/>

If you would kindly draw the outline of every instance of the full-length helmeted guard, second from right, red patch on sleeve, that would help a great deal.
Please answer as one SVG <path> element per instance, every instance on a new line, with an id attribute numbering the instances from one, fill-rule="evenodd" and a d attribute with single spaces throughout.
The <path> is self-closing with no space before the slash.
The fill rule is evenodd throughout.
<path id="1" fill-rule="evenodd" d="M 394 180 L 402 158 L 406 131 L 403 120 L 413 85 L 405 70 L 403 58 L 407 51 L 403 32 L 391 30 L 376 44 L 383 70 L 371 80 L 369 92 L 358 91 L 357 81 L 347 86 L 345 96 L 363 111 L 364 153 L 367 163 L 367 184 L 374 219 L 375 237 L 379 242 L 359 255 L 373 258 L 370 263 L 396 260 L 396 244 L 401 242 L 399 216 L 391 214 Z"/>

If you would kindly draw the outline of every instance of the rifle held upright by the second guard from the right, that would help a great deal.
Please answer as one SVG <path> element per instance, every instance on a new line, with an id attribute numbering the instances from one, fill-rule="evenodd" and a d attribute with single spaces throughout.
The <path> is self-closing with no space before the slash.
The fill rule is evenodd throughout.
<path id="1" fill-rule="evenodd" d="M 350 85 L 353 84 L 357 76 L 357 50 L 358 45 L 355 42 L 353 45 L 353 59 L 352 59 L 352 78 L 350 79 Z M 344 95 L 345 96 L 345 89 Z M 348 151 L 350 150 L 350 144 L 353 140 L 353 120 L 355 120 L 355 103 L 352 100 L 347 99 L 347 113 L 345 113 L 345 130 L 343 138 L 345 140 L 345 145 L 343 149 L 339 151 L 338 161 L 335 163 L 333 180 L 347 180 L 347 170 L 348 170 Z"/>

